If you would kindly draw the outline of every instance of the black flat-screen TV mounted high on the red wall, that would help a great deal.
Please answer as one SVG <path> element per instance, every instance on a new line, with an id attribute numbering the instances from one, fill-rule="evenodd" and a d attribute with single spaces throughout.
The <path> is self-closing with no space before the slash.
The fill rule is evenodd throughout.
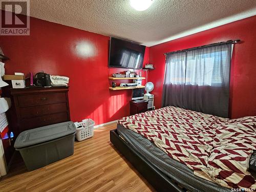
<path id="1" fill-rule="evenodd" d="M 130 41 L 111 37 L 109 67 L 141 69 L 145 48 Z"/>

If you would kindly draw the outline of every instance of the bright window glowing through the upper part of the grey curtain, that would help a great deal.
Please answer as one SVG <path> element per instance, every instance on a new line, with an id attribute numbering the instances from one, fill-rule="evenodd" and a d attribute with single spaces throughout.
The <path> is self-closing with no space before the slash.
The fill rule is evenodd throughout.
<path id="1" fill-rule="evenodd" d="M 193 50 L 172 55 L 169 63 L 166 62 L 166 69 L 171 73 L 165 76 L 165 83 L 221 86 L 224 81 L 222 61 L 228 60 L 228 56 L 227 50 Z"/>

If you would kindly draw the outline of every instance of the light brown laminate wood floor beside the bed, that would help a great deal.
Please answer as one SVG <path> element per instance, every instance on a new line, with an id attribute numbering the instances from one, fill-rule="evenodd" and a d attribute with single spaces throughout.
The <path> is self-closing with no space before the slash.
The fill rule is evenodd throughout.
<path id="1" fill-rule="evenodd" d="M 111 144 L 115 128 L 95 129 L 94 137 L 75 142 L 74 155 L 31 172 L 16 153 L 0 191 L 155 191 Z"/>

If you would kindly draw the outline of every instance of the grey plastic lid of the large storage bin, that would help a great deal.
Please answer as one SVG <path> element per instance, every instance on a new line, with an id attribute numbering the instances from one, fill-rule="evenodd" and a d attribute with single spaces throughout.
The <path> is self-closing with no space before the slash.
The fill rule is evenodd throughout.
<path id="1" fill-rule="evenodd" d="M 14 147 L 26 147 L 74 134 L 75 132 L 76 127 L 72 121 L 42 126 L 20 133 L 14 143 Z"/>

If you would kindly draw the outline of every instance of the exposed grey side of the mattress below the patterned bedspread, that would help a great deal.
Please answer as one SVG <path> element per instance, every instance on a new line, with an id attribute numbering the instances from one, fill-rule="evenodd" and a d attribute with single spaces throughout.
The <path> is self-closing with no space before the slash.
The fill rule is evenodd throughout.
<path id="1" fill-rule="evenodd" d="M 136 151 L 138 151 L 148 162 L 151 162 L 161 172 L 166 174 L 170 179 L 176 181 L 189 191 L 213 191 L 213 192 L 230 192 L 230 188 L 219 186 L 216 183 L 205 180 L 194 175 L 193 170 L 186 165 L 170 158 L 160 148 L 158 148 L 150 140 L 144 138 L 132 130 L 125 129 L 120 124 L 117 124 L 118 134 Z"/>

